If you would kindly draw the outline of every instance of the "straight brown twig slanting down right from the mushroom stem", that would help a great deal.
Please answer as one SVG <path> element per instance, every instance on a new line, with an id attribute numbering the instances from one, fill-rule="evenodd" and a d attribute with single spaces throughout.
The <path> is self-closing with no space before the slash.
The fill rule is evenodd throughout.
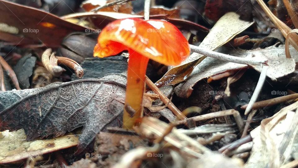
<path id="1" fill-rule="evenodd" d="M 158 96 L 160 97 L 160 100 L 164 103 L 167 104 L 170 100 L 168 97 L 166 97 L 160 90 L 159 88 L 154 85 L 154 83 L 146 76 L 146 84 L 150 87 L 152 91 L 154 91 Z M 170 102 L 168 105 L 168 108 L 180 119 L 187 119 L 184 114 L 181 113 L 181 111 L 172 103 Z"/>

